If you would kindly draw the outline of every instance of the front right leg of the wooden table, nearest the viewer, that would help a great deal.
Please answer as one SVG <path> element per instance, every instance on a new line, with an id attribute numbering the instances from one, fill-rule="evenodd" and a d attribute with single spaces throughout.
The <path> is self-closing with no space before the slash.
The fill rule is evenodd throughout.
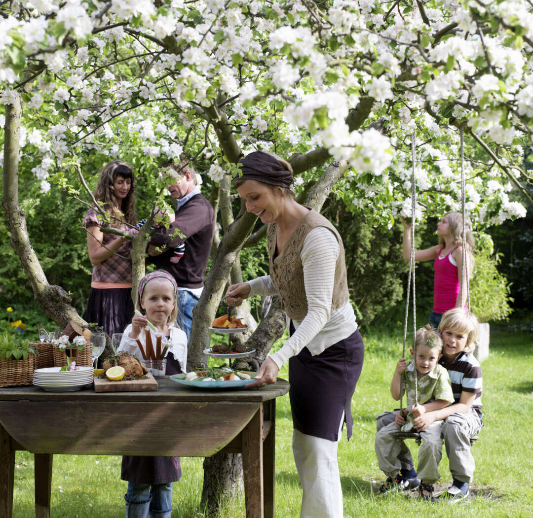
<path id="1" fill-rule="evenodd" d="M 241 434 L 246 518 L 263 518 L 263 405 Z"/>

